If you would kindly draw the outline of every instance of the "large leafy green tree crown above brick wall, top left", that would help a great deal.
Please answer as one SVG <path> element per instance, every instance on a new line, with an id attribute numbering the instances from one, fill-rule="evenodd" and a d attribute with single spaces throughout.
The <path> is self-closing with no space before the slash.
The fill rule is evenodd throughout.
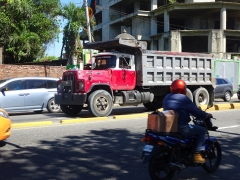
<path id="1" fill-rule="evenodd" d="M 59 34 L 60 12 L 60 0 L 6 0 L 0 5 L 4 63 L 31 62 L 42 57 L 47 44 Z"/>

